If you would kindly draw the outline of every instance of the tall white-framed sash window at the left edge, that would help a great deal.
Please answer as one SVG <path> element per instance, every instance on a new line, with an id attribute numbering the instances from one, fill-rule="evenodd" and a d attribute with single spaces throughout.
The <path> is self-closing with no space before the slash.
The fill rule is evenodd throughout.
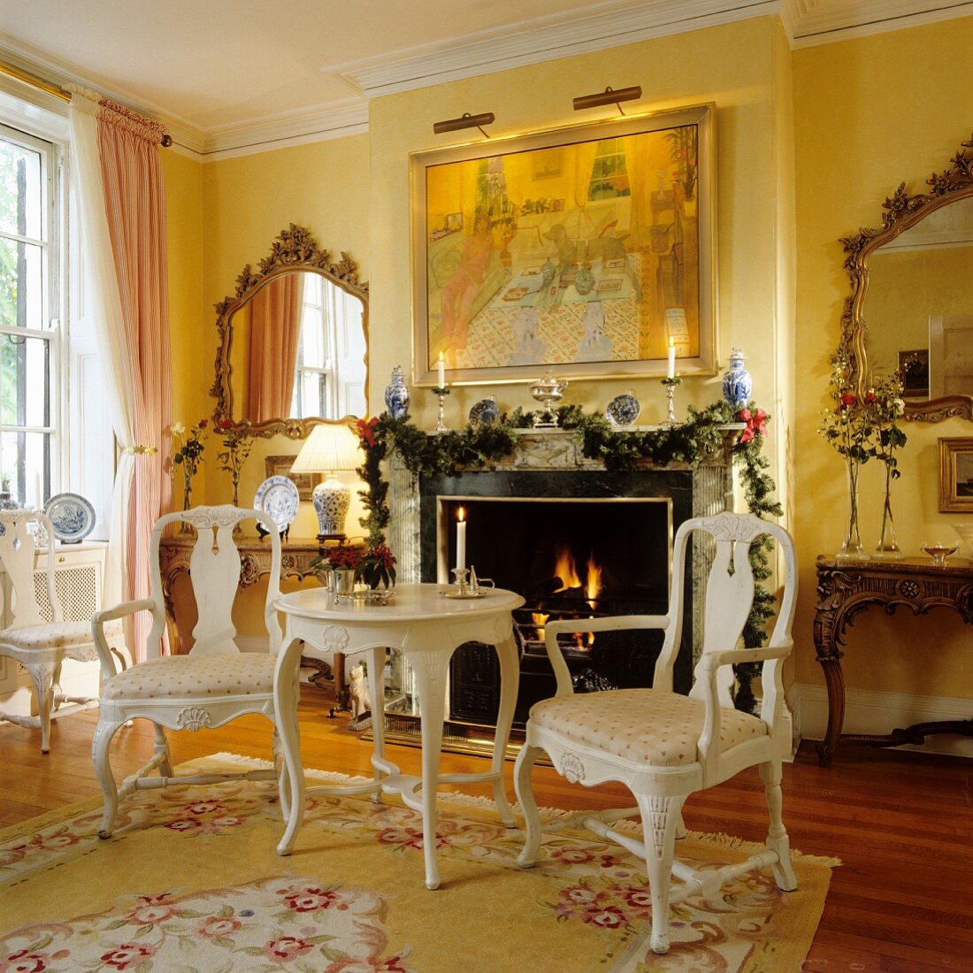
<path id="1" fill-rule="evenodd" d="M 60 254 L 54 144 L 0 126 L 0 482 L 21 504 L 52 485 Z"/>

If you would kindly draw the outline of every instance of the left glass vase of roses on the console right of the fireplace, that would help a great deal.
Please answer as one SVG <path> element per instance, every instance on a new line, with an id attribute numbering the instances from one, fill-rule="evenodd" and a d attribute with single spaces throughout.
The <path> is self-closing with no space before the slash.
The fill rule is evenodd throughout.
<path id="1" fill-rule="evenodd" d="M 834 407 L 825 409 L 818 433 L 845 460 L 847 522 L 839 559 L 868 559 L 861 543 L 858 520 L 858 485 L 862 466 L 876 455 L 877 430 L 873 405 L 875 391 L 860 395 L 848 379 L 847 362 L 839 359 L 831 373 Z"/>

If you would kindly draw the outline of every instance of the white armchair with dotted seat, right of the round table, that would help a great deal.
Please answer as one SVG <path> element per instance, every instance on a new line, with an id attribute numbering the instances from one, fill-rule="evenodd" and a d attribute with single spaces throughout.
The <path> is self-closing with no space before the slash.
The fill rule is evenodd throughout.
<path id="1" fill-rule="evenodd" d="M 700 534 L 709 534 L 716 553 L 706 582 L 703 654 L 687 697 L 672 691 L 672 667 L 686 609 L 683 578 L 687 547 L 694 532 L 698 540 L 703 539 Z M 750 613 L 754 589 L 748 556 L 751 544 L 762 534 L 771 535 L 780 549 L 783 594 L 769 644 L 743 649 L 738 648 L 739 637 Z M 541 823 L 530 772 L 544 751 L 559 774 L 572 783 L 594 786 L 617 780 L 631 790 L 637 807 L 579 812 L 566 824 L 559 819 L 551 827 L 587 827 L 645 861 L 652 897 L 654 952 L 668 951 L 670 904 L 691 895 L 711 896 L 729 880 L 768 866 L 779 888 L 796 888 L 780 798 L 781 757 L 789 744 L 789 740 L 781 739 L 786 726 L 781 719 L 781 669 L 791 650 L 796 596 L 794 548 L 787 531 L 751 515 L 719 514 L 687 521 L 676 531 L 672 594 L 666 615 L 548 623 L 547 651 L 558 688 L 553 699 L 531 707 L 526 740 L 514 771 L 526 824 L 518 863 L 529 868 L 536 863 L 540 849 Z M 663 631 L 653 688 L 575 694 L 558 635 L 570 635 L 579 627 L 583 631 Z M 734 708 L 730 690 L 732 667 L 757 662 L 763 663 L 763 700 L 760 715 L 753 716 Z M 689 795 L 754 765 L 760 769 L 770 813 L 766 846 L 739 865 L 719 869 L 694 869 L 675 861 L 675 839 L 682 831 L 682 807 Z M 613 822 L 635 815 L 641 816 L 643 841 L 612 827 Z M 733 822 L 727 827 L 732 829 Z"/>

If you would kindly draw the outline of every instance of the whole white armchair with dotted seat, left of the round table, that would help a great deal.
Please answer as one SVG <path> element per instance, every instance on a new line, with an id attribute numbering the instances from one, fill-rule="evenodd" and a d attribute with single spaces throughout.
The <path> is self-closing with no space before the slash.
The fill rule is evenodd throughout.
<path id="1" fill-rule="evenodd" d="M 234 526 L 256 520 L 270 537 L 270 580 L 264 607 L 264 621 L 270 637 L 269 652 L 240 652 L 234 636 L 231 613 L 240 577 L 240 556 L 234 543 Z M 169 524 L 191 523 L 197 530 L 190 556 L 190 579 L 196 596 L 199 620 L 193 630 L 195 644 L 186 655 L 163 656 L 165 605 L 159 547 L 162 532 Z M 100 838 L 111 836 L 119 800 L 136 788 L 164 787 L 168 784 L 204 784 L 245 777 L 278 779 L 282 810 L 287 813 L 287 788 L 278 757 L 277 716 L 273 710 L 273 667 L 280 648 L 281 631 L 274 601 L 280 595 L 280 537 L 276 525 L 266 514 L 229 505 L 196 507 L 160 518 L 152 531 L 150 560 L 152 597 L 128 601 L 92 620 L 94 640 L 101 659 L 103 683 L 98 726 L 91 743 L 94 772 L 105 797 L 105 809 L 98 831 Z M 146 643 L 146 660 L 116 672 L 112 654 L 103 635 L 106 624 L 133 615 L 152 613 L 152 629 Z M 297 679 L 297 673 L 294 676 Z M 295 688 L 295 693 L 297 689 Z M 274 768 L 243 774 L 172 775 L 168 742 L 164 729 L 189 730 L 218 727 L 245 713 L 260 713 L 273 724 Z M 156 731 L 155 753 L 139 771 L 126 777 L 119 787 L 112 775 L 108 746 L 119 727 L 128 720 L 151 720 Z M 283 718 L 296 719 L 291 713 Z M 159 775 L 152 775 L 158 770 Z"/>

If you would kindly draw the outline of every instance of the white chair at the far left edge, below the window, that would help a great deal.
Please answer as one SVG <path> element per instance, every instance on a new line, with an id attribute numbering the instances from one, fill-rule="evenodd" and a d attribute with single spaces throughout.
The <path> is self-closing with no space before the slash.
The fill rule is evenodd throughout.
<path id="1" fill-rule="evenodd" d="M 32 526 L 31 526 L 32 525 Z M 98 655 L 91 636 L 90 619 L 65 622 L 54 579 L 54 527 L 44 514 L 33 510 L 0 511 L 0 562 L 7 574 L 11 624 L 0 631 L 0 655 L 9 656 L 24 667 L 33 684 L 36 716 L 0 713 L 0 720 L 41 730 L 41 753 L 51 749 L 51 721 L 61 716 L 93 709 L 97 697 L 65 696 L 60 687 L 61 663 L 65 659 L 96 662 Z M 40 576 L 37 556 L 41 553 L 46 571 L 43 598 L 38 598 Z M 116 623 L 105 631 L 109 655 L 125 666 L 125 637 Z"/>

